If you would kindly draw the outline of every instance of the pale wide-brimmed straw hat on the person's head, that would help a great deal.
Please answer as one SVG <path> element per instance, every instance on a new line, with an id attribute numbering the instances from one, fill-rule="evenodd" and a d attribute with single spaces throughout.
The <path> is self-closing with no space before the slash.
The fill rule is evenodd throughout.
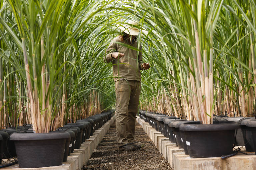
<path id="1" fill-rule="evenodd" d="M 126 34 L 130 34 L 131 36 L 138 36 L 140 33 L 140 30 L 133 27 L 133 26 L 137 26 L 138 27 L 138 23 L 132 20 L 129 20 L 127 24 L 118 24 L 117 27 L 122 30 L 123 32 L 125 32 Z M 145 35 L 148 34 L 148 32 L 142 28 L 142 33 L 144 33 Z"/>

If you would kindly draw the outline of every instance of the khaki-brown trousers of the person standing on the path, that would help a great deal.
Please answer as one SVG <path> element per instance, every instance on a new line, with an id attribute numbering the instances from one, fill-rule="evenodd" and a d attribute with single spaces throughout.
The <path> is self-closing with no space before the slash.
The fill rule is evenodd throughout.
<path id="1" fill-rule="evenodd" d="M 118 80 L 115 82 L 116 137 L 120 146 L 133 142 L 140 88 L 141 82 L 137 80 Z"/>

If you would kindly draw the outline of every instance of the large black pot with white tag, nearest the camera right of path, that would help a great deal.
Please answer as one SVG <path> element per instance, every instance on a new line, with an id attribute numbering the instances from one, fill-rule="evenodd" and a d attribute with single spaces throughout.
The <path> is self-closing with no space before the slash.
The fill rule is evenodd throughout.
<path id="1" fill-rule="evenodd" d="M 235 129 L 238 124 L 231 121 L 198 125 L 195 122 L 180 125 L 184 131 L 190 157 L 220 157 L 233 153 Z"/>

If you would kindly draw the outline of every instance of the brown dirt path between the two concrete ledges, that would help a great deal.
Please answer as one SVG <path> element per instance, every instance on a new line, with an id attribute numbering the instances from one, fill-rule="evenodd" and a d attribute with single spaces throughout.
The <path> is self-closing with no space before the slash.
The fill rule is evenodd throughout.
<path id="1" fill-rule="evenodd" d="M 172 170 L 141 126 L 136 123 L 135 141 L 143 144 L 140 150 L 121 151 L 116 142 L 114 124 L 106 133 L 92 157 L 82 169 L 87 170 Z"/>

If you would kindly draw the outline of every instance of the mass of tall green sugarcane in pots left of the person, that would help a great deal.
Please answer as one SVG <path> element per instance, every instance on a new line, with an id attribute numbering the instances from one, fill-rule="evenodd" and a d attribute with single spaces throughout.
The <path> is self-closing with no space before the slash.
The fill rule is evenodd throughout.
<path id="1" fill-rule="evenodd" d="M 101 57 L 111 2 L 1 1 L 0 111 L 8 106 L 13 126 L 49 132 L 113 105 L 102 97 L 113 97 L 102 84 L 113 80 Z"/>

